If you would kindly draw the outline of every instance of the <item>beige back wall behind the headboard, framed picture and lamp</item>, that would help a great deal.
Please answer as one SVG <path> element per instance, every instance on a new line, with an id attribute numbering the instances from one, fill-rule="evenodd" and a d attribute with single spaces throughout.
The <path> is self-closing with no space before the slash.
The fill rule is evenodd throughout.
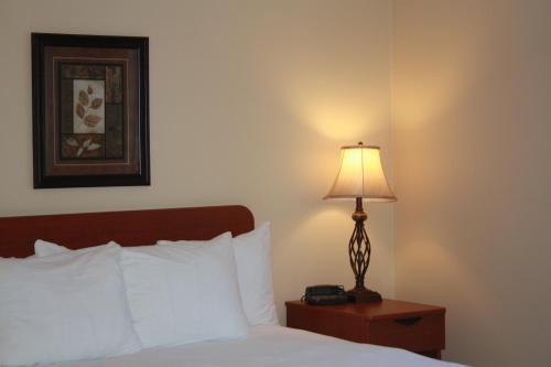
<path id="1" fill-rule="evenodd" d="M 270 219 L 283 301 L 353 284 L 353 203 L 322 202 L 338 148 L 390 147 L 387 1 L 0 0 L 0 215 L 240 203 Z M 147 35 L 151 187 L 32 188 L 31 32 Z M 392 205 L 369 283 L 393 295 Z"/>

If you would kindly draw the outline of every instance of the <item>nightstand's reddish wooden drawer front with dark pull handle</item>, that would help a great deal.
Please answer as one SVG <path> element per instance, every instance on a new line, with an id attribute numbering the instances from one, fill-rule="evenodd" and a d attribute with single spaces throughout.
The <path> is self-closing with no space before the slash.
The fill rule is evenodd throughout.
<path id="1" fill-rule="evenodd" d="M 444 313 L 408 315 L 368 323 L 369 343 L 426 352 L 445 348 Z"/>

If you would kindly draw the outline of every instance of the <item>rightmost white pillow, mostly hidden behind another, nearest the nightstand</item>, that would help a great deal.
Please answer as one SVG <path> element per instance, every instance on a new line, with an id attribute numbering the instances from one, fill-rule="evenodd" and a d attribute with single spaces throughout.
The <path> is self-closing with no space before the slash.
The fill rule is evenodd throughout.
<path id="1" fill-rule="evenodd" d="M 187 241 L 158 242 L 162 246 Z M 272 285 L 270 224 L 233 239 L 241 302 L 250 325 L 279 324 Z"/>

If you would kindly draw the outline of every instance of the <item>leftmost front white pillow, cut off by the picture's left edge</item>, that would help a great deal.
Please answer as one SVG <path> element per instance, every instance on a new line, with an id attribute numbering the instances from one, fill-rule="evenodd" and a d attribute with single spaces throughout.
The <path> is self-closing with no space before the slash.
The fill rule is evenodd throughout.
<path id="1" fill-rule="evenodd" d="M 138 352 L 118 265 L 120 248 L 0 258 L 0 365 Z"/>

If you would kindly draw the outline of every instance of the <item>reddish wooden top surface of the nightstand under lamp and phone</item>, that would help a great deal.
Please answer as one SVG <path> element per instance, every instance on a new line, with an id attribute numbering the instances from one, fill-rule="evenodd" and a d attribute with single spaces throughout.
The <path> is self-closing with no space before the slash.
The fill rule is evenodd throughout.
<path id="1" fill-rule="evenodd" d="M 368 320 L 383 320 L 395 317 L 407 317 L 412 315 L 422 315 L 430 313 L 445 313 L 445 307 L 396 301 L 382 300 L 374 303 L 346 303 L 338 305 L 309 305 L 302 301 L 289 301 L 285 305 L 294 307 L 310 307 L 318 312 L 347 313 L 355 316 L 366 317 Z"/>

